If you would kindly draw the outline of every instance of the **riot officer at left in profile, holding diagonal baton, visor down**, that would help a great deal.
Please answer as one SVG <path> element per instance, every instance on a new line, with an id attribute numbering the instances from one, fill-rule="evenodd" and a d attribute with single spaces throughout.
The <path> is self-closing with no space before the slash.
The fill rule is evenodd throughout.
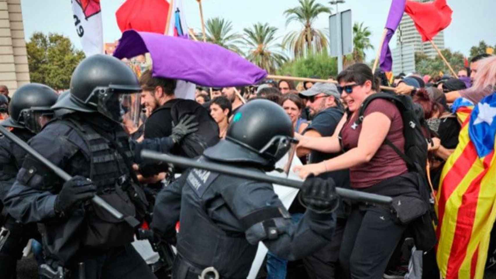
<path id="1" fill-rule="evenodd" d="M 90 203 L 98 194 L 124 216 L 135 216 L 146 203 L 131 179 L 133 154 L 121 125 L 124 117 L 138 119 L 140 91 L 124 62 L 89 56 L 74 70 L 69 95 L 53 106 L 64 113 L 30 140 L 33 149 L 73 176 L 63 182 L 28 155 L 5 198 L 18 221 L 40 223 L 47 272 L 65 278 L 155 278 L 130 244 L 134 228 Z"/>

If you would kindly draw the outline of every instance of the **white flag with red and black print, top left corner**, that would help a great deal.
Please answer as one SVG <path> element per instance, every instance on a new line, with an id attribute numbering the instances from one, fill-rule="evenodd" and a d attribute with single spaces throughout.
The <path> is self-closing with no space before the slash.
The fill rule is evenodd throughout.
<path id="1" fill-rule="evenodd" d="M 71 0 L 74 27 L 86 56 L 103 54 L 100 0 Z"/>

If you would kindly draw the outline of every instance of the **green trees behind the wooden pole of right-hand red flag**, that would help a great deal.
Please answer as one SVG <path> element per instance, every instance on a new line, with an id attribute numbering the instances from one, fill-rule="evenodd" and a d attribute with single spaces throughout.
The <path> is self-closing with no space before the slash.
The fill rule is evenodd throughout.
<path id="1" fill-rule="evenodd" d="M 442 55 L 449 62 L 451 67 L 455 72 L 463 69 L 463 54 L 460 52 L 452 53 L 449 49 L 444 49 L 441 51 Z M 441 56 L 436 56 L 434 58 L 429 58 L 427 55 L 423 53 L 415 54 L 415 68 L 417 72 L 421 74 L 428 74 L 431 76 L 439 75 L 439 72 L 443 72 L 444 74 L 452 75 L 449 68 L 444 64 Z"/>

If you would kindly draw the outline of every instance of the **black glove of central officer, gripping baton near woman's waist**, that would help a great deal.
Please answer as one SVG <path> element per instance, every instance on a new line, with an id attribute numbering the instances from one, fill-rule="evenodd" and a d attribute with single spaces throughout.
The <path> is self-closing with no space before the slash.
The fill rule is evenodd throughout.
<path id="1" fill-rule="evenodd" d="M 300 202 L 317 213 L 333 212 L 339 205 L 334 180 L 322 179 L 310 174 L 303 182 Z"/>

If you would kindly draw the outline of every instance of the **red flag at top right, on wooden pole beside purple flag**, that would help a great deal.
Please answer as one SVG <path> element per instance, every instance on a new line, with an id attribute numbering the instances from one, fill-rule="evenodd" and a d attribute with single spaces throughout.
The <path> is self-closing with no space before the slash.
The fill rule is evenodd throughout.
<path id="1" fill-rule="evenodd" d="M 430 3 L 407 0 L 405 12 L 415 22 L 423 42 L 432 40 L 439 31 L 448 27 L 453 13 L 446 0 L 434 0 Z"/>

